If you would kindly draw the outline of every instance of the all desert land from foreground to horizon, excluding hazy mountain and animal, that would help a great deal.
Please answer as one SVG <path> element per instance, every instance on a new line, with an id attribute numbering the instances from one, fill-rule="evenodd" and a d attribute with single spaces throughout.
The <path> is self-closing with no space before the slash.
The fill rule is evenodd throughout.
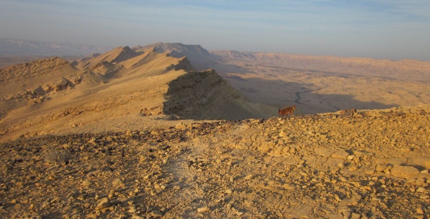
<path id="1" fill-rule="evenodd" d="M 1 218 L 430 217 L 428 61 L 34 57 L 0 57 Z"/>

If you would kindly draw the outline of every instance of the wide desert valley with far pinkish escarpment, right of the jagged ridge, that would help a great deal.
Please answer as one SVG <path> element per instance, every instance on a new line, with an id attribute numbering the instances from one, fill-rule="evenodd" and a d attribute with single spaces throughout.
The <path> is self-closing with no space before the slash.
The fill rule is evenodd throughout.
<path id="1" fill-rule="evenodd" d="M 430 63 L 426 61 L 208 52 L 199 45 L 180 43 L 150 46 L 171 51 L 175 57 L 187 56 L 198 69 L 215 69 L 252 103 L 276 108 L 295 104 L 299 114 L 430 104 Z"/>

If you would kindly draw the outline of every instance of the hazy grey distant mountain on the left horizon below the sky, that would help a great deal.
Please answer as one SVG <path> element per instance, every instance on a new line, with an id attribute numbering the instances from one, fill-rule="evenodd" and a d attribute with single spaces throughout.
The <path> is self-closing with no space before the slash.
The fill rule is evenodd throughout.
<path id="1" fill-rule="evenodd" d="M 0 55 L 89 55 L 92 53 L 106 53 L 111 49 L 111 47 L 74 43 L 54 43 L 0 38 Z"/>

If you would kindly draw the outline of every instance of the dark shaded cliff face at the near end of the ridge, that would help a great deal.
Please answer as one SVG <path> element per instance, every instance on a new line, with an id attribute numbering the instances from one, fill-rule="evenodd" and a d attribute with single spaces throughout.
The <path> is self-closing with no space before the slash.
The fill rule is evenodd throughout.
<path id="1" fill-rule="evenodd" d="M 189 72 L 170 81 L 165 98 L 163 113 L 182 118 L 235 120 L 270 116 L 247 102 L 213 69 Z"/>

